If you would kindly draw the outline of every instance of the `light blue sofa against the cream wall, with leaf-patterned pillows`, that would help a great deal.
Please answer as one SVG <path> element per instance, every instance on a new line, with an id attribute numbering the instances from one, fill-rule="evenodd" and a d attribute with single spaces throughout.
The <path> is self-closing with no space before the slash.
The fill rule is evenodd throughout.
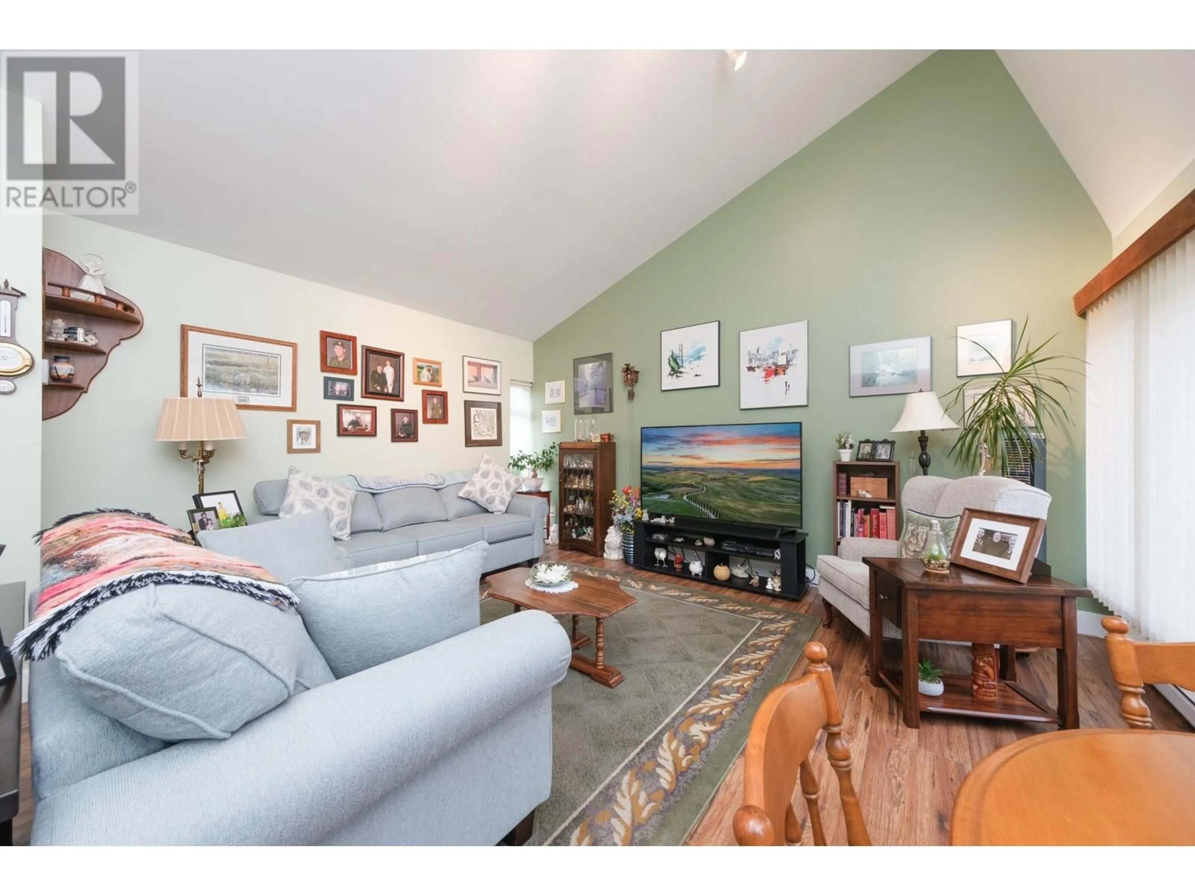
<path id="1" fill-rule="evenodd" d="M 358 491 L 353 502 L 353 538 L 337 544 L 354 566 L 405 560 L 474 541 L 490 545 L 486 572 L 539 560 L 546 501 L 515 495 L 504 514 L 491 514 L 459 497 L 462 485 L 411 486 L 376 496 Z M 271 518 L 278 515 L 286 493 L 286 479 L 268 479 L 253 486 L 257 509 Z"/>

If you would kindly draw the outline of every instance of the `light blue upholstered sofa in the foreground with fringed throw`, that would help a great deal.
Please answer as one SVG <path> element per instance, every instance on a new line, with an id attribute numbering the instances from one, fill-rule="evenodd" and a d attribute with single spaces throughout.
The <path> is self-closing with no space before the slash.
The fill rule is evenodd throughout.
<path id="1" fill-rule="evenodd" d="M 330 540 L 323 517 L 308 516 Z M 272 526 L 292 520 L 311 523 Z M 289 550 L 308 558 L 302 575 L 336 567 L 327 553 Z M 33 662 L 32 842 L 526 839 L 551 791 L 551 696 L 569 668 L 569 638 L 539 612 L 479 625 L 476 572 L 454 591 L 388 608 L 404 655 L 296 693 L 226 739 L 147 737 L 85 702 L 59 658 Z"/>

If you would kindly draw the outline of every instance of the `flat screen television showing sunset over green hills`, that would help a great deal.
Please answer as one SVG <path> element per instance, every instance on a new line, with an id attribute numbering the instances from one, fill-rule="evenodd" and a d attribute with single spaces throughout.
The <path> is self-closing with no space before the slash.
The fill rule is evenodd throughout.
<path id="1" fill-rule="evenodd" d="M 644 426 L 643 510 L 801 528 L 801 424 Z"/>

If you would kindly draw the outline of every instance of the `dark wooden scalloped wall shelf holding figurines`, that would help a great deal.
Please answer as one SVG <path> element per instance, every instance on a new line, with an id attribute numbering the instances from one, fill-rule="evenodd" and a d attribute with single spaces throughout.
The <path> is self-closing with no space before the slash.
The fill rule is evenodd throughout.
<path id="1" fill-rule="evenodd" d="M 48 331 L 50 320 L 62 318 L 67 326 L 85 326 L 97 337 L 94 345 L 43 337 L 43 357 L 53 362 L 55 355 L 67 355 L 75 369 L 71 382 L 43 383 L 43 421 L 74 407 L 108 364 L 109 352 L 140 333 L 143 325 L 141 309 L 120 293 L 94 293 L 71 286 L 81 282 L 85 274 L 61 252 L 42 250 L 43 326 Z"/>

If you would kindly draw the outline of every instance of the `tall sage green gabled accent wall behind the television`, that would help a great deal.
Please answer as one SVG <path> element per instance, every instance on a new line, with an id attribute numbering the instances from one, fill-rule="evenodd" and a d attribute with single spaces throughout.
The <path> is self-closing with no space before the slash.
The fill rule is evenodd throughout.
<path id="1" fill-rule="evenodd" d="M 778 110 L 783 113 L 783 110 Z M 848 398 L 848 346 L 933 338 L 933 387 L 955 376 L 955 327 L 1028 315 L 1037 342 L 1084 354 L 1071 296 L 1110 258 L 1111 237 L 1028 102 L 991 51 L 939 51 L 762 177 L 535 342 L 543 383 L 572 358 L 613 352 L 619 483 L 637 481 L 639 428 L 801 421 L 804 528 L 813 565 L 832 550 L 833 437 L 887 438 L 903 395 Z M 722 385 L 661 392 L 660 331 L 722 321 Z M 809 321 L 809 405 L 739 410 L 739 331 Z M 633 401 L 618 370 L 639 369 Z M 1073 425 L 1048 432 L 1049 560 L 1085 581 L 1083 380 Z M 538 423 L 537 415 L 537 423 Z M 537 430 L 539 426 L 537 425 Z M 896 440 L 902 479 L 919 473 L 913 435 Z M 931 434 L 932 473 L 960 477 Z M 1097 606 L 1097 605 L 1096 605 Z M 1095 607 L 1091 607 L 1095 608 Z"/>

